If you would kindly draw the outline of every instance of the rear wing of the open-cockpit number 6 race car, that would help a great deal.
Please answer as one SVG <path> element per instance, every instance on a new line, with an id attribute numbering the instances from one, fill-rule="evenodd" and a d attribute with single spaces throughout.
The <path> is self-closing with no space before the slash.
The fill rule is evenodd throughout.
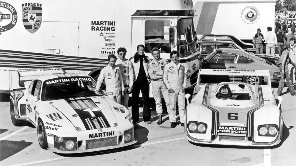
<path id="1" fill-rule="evenodd" d="M 230 70 L 230 69 L 200 69 L 197 83 L 200 83 L 200 75 L 229 75 L 229 76 L 263 76 L 271 86 L 270 73 L 268 70 Z M 210 77 L 210 76 L 209 76 Z"/>

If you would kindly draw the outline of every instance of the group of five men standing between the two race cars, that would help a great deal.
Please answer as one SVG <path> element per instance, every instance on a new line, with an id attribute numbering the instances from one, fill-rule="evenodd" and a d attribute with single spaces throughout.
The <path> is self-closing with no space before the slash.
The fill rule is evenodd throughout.
<path id="1" fill-rule="evenodd" d="M 106 95 L 128 108 L 129 94 L 132 94 L 131 115 L 133 124 L 139 122 L 139 95 L 142 94 L 143 120 L 151 123 L 151 112 L 149 108 L 149 84 L 152 84 L 153 97 L 155 99 L 156 112 L 158 115 L 157 124 L 162 124 L 162 100 L 163 96 L 168 110 L 170 127 L 177 126 L 176 101 L 178 100 L 179 117 L 181 126 L 184 126 L 185 116 L 185 66 L 179 62 L 179 53 L 170 53 L 171 62 L 160 58 L 161 51 L 153 48 L 150 59 L 144 54 L 144 45 L 137 46 L 137 52 L 129 60 L 125 58 L 126 49 L 118 48 L 118 58 L 114 54 L 108 56 L 108 65 L 103 67 L 96 84 L 95 93 L 103 82 L 106 84 Z"/>

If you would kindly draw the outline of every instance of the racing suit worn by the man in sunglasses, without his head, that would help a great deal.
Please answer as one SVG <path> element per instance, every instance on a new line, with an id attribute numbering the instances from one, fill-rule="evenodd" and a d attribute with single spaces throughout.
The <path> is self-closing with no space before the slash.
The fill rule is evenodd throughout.
<path id="1" fill-rule="evenodd" d="M 129 87 L 133 87 L 133 66 L 131 64 L 131 61 L 127 59 L 121 60 L 120 58 L 117 58 L 115 65 L 117 65 L 121 71 L 125 90 L 124 92 L 126 92 L 123 98 L 121 98 L 121 105 L 125 106 L 126 109 L 128 109 L 129 94 L 127 93 L 127 90 Z"/>

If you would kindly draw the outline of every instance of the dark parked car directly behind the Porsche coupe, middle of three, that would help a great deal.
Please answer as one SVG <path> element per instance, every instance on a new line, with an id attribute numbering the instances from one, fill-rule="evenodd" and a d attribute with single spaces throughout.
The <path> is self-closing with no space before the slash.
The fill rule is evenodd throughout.
<path id="1" fill-rule="evenodd" d="M 207 55 L 219 48 L 232 48 L 238 50 L 244 50 L 239 45 L 231 41 L 199 41 L 198 47 L 200 48 L 200 58 L 205 58 Z M 279 67 L 279 56 L 270 55 L 270 54 L 260 54 L 260 53 L 251 53 L 255 56 L 263 58 L 267 61 L 270 61 L 272 64 Z"/>

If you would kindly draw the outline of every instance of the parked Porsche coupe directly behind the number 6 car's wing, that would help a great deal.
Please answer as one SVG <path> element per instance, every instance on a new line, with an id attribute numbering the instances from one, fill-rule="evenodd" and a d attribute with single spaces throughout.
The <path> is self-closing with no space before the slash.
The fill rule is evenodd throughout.
<path id="1" fill-rule="evenodd" d="M 201 63 L 202 69 L 269 70 L 271 82 L 277 82 L 281 79 L 280 70 L 277 66 L 243 50 L 217 49 L 203 58 Z M 261 85 L 267 81 L 266 78 L 260 75 L 221 77 L 220 79 L 225 81 L 245 82 L 250 85 Z"/>

